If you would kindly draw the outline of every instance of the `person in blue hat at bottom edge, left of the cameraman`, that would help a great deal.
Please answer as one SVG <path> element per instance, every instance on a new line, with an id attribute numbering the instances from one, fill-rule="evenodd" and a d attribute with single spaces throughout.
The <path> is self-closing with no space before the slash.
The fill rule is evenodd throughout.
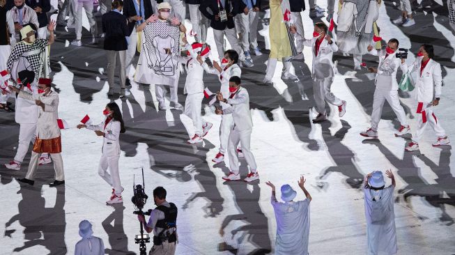
<path id="1" fill-rule="evenodd" d="M 84 219 L 79 223 L 79 235 L 82 237 L 75 247 L 75 255 L 104 255 L 105 244 L 101 238 L 93 236 L 92 224 Z"/>

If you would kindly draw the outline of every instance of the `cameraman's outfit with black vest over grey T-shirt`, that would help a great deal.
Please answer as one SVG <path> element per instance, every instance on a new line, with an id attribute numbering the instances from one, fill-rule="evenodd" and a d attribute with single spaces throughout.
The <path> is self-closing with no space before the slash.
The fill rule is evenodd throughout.
<path id="1" fill-rule="evenodd" d="M 153 229 L 153 247 L 149 255 L 171 255 L 177 244 L 177 207 L 165 201 L 151 211 L 147 226 Z"/>

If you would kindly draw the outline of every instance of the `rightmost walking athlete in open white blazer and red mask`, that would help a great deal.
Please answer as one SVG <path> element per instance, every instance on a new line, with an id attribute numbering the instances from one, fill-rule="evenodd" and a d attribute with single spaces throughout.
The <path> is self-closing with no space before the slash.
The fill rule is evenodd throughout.
<path id="1" fill-rule="evenodd" d="M 415 88 L 417 88 L 417 130 L 412 136 L 412 141 L 406 146 L 406 150 L 419 150 L 419 141 L 424 133 L 426 123 L 430 123 L 433 132 L 438 139 L 433 146 L 449 145 L 450 140 L 442 128 L 440 120 L 436 118 L 433 107 L 439 105 L 442 94 L 441 65 L 433 60 L 433 45 L 424 44 L 419 48 L 415 62 L 410 67 L 403 63 L 403 72 L 409 70 L 417 72 Z"/>

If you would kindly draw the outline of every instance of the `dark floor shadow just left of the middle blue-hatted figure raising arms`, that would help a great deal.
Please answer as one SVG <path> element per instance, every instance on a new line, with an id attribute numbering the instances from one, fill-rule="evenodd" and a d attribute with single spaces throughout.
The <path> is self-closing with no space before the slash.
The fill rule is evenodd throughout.
<path id="1" fill-rule="evenodd" d="M 226 169 L 224 169 L 224 171 L 226 171 Z M 264 215 L 261 206 L 259 205 L 261 196 L 259 181 L 254 181 L 252 183 L 238 181 L 225 184 L 229 185 L 229 188 L 232 190 L 239 213 L 228 215 L 224 218 L 222 225 L 219 228 L 219 234 L 222 237 L 224 235 L 230 236 L 231 239 L 238 234 L 240 234 L 240 236 L 236 239 L 237 247 L 233 247 L 227 242 L 222 242 L 218 245 L 218 251 L 228 251 L 232 254 L 242 252 L 242 254 L 244 254 L 243 252 L 246 251 L 239 249 L 239 246 L 243 247 L 245 246 L 245 242 L 249 242 L 249 245 L 253 245 L 255 249 L 247 254 L 269 254 L 272 251 L 272 246 L 268 235 L 268 218 Z M 234 221 L 242 223 L 242 226 L 233 229 L 230 235 L 224 233 L 224 229 Z"/>

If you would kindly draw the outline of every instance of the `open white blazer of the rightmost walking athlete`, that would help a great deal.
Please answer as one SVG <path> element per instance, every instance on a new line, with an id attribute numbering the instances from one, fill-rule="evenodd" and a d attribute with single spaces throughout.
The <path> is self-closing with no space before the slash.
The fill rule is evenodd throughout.
<path id="1" fill-rule="evenodd" d="M 414 63 L 410 67 L 403 63 L 401 69 L 403 72 L 409 70 L 412 72 L 417 72 L 417 79 L 415 79 L 415 88 L 417 88 L 417 102 L 430 103 L 434 98 L 440 98 L 442 93 L 442 71 L 441 65 L 430 59 L 424 70 L 422 70 L 422 75 L 420 75 L 420 66 L 422 65 L 422 57 L 417 57 Z"/>

